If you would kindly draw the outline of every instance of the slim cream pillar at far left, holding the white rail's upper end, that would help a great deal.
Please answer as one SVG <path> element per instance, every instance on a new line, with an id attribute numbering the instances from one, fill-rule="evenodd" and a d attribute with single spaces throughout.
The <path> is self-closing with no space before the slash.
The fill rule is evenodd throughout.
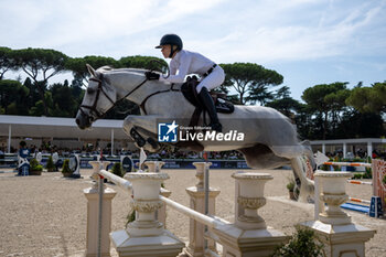
<path id="1" fill-rule="evenodd" d="M 98 181 L 98 174 L 96 173 L 99 168 L 106 169 L 109 162 L 104 162 L 103 167 L 98 161 L 92 161 L 93 178 Z M 105 188 L 105 186 L 104 186 Z M 99 196 L 98 196 L 98 182 L 93 188 L 85 189 L 84 194 L 87 199 L 87 233 L 86 233 L 86 254 L 87 257 L 97 256 L 97 243 L 98 243 L 98 213 L 99 213 Z M 112 189 L 106 189 L 103 197 L 103 226 L 101 226 L 101 256 L 110 256 L 110 238 L 111 231 L 111 201 L 117 193 Z"/>

